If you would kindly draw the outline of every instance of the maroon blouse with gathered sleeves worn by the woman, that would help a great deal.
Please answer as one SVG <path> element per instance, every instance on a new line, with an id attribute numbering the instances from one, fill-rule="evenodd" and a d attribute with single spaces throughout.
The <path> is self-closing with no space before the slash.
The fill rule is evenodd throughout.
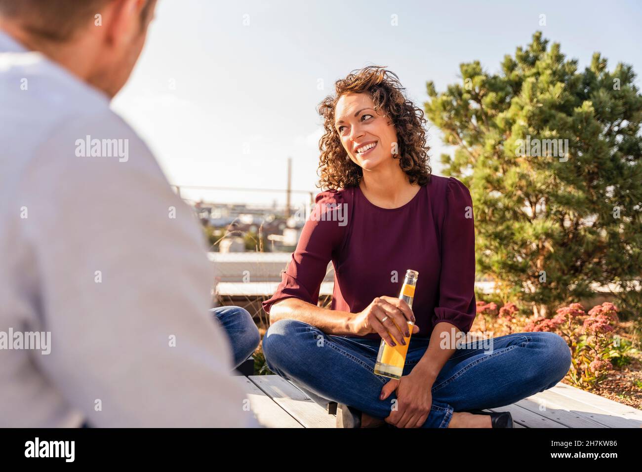
<path id="1" fill-rule="evenodd" d="M 398 297 L 406 270 L 413 269 L 419 272 L 414 336 L 429 337 L 440 321 L 470 330 L 476 316 L 475 234 L 473 202 L 462 182 L 431 175 L 410 202 L 392 209 L 372 204 L 359 186 L 324 191 L 316 202 L 281 284 L 263 302 L 266 313 L 290 297 L 317 305 L 332 261 L 331 310 L 358 313 L 376 297 Z"/>

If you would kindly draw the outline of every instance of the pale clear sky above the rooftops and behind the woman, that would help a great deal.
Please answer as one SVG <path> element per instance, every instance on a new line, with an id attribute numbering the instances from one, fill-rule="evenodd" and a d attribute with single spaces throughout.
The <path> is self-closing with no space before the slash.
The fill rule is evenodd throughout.
<path id="1" fill-rule="evenodd" d="M 496 73 L 537 30 L 582 68 L 600 51 L 609 69 L 626 62 L 642 72 L 639 1 L 159 0 L 156 15 L 113 108 L 180 185 L 285 189 L 292 157 L 292 188 L 316 195 L 316 107 L 335 80 L 369 64 L 396 73 L 419 106 L 427 80 L 443 91 L 472 60 Z M 435 128 L 429 135 L 440 174 L 447 150 Z M 184 197 L 285 201 L 242 191 Z"/>

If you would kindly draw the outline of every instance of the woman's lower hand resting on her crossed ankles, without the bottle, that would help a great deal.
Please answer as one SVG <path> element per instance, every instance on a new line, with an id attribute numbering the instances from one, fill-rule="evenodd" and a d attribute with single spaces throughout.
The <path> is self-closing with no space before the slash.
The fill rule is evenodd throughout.
<path id="1" fill-rule="evenodd" d="M 392 379 L 381 389 L 382 400 L 397 391 L 396 408 L 385 419 L 386 423 L 394 424 L 397 428 L 420 428 L 426 423 L 433 403 L 431 393 L 432 383 L 421 376 L 413 376 L 412 372 L 399 380 Z"/>

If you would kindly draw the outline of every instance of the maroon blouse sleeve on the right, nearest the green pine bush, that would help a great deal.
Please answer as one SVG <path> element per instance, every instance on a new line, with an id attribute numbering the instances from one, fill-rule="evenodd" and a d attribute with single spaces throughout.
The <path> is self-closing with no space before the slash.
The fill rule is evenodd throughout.
<path id="1" fill-rule="evenodd" d="M 467 333 L 476 316 L 473 200 L 462 182 L 450 177 L 441 234 L 439 300 L 433 328 L 446 321 Z"/>

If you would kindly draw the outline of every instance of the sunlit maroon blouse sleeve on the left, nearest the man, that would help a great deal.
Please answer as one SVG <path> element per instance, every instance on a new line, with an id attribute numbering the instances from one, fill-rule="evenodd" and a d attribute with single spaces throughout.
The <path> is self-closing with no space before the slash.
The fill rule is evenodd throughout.
<path id="1" fill-rule="evenodd" d="M 327 265 L 343 241 L 347 216 L 347 203 L 343 192 L 328 190 L 315 198 L 315 207 L 301 231 L 297 248 L 292 253 L 288 267 L 282 273 L 276 292 L 262 303 L 268 315 L 272 305 L 286 298 L 295 297 L 317 304 L 321 283 Z"/>

